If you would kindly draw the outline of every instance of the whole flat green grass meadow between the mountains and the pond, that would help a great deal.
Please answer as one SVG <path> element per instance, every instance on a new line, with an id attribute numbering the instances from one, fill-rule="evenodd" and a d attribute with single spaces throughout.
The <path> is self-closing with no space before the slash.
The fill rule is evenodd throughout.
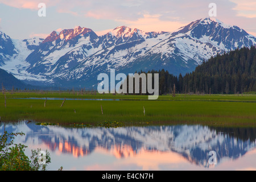
<path id="1" fill-rule="evenodd" d="M 26 100 L 15 98 L 96 98 L 113 100 Z M 118 101 L 117 101 L 118 100 Z M 101 113 L 101 106 L 103 114 Z M 143 113 L 143 107 L 145 114 Z M 125 125 L 200 124 L 208 126 L 256 126 L 256 95 L 189 95 L 122 96 L 113 94 L 83 94 L 70 92 L 7 93 L 0 96 L 0 117 L 4 122 L 22 119 L 59 124 L 105 121 Z"/>

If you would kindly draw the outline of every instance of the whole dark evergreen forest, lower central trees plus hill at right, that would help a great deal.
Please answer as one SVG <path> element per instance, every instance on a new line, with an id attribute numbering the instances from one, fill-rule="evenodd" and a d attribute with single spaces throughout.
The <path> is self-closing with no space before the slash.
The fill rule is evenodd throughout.
<path id="1" fill-rule="evenodd" d="M 146 72 L 138 72 L 141 73 Z M 256 48 L 244 47 L 210 57 L 208 61 L 197 66 L 195 71 L 185 75 L 175 76 L 164 69 L 147 73 L 159 73 L 160 95 L 256 92 Z"/>

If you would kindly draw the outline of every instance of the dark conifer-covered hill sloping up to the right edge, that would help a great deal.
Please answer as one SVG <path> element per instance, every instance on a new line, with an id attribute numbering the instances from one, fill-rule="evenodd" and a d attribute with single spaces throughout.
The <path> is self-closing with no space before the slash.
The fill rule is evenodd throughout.
<path id="1" fill-rule="evenodd" d="M 244 47 L 212 57 L 183 80 L 180 92 L 186 92 L 185 88 L 201 93 L 256 92 L 256 48 Z"/>

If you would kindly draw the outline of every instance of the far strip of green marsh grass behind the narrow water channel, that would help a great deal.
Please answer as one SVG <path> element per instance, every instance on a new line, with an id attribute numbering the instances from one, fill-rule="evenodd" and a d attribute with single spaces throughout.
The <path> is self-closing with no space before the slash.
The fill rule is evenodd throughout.
<path id="1" fill-rule="evenodd" d="M 77 94 L 78 93 L 78 94 Z M 67 92 L 67 91 L 37 91 L 37 92 L 6 92 L 6 98 L 73 98 L 73 99 L 115 99 L 115 100 L 148 100 L 148 96 L 143 95 L 123 95 L 123 94 L 99 94 L 87 91 L 83 92 Z M 0 99 L 5 98 L 4 94 L 0 93 Z M 241 101 L 241 102 L 256 102 L 256 94 L 171 94 L 159 96 L 158 101 Z M 48 101 L 48 100 L 47 100 Z M 60 103 L 61 105 L 61 103 Z"/>

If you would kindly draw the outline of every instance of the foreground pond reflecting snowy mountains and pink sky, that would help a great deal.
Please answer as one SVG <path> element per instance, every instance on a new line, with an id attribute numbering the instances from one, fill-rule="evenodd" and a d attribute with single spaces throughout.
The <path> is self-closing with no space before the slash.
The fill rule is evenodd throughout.
<path id="1" fill-rule="evenodd" d="M 256 129 L 200 125 L 144 127 L 41 126 L 1 123 L 22 131 L 15 143 L 49 151 L 48 170 L 256 170 Z M 214 151 L 216 164 L 209 162 Z M 213 161 L 213 160 L 212 160 Z"/>

